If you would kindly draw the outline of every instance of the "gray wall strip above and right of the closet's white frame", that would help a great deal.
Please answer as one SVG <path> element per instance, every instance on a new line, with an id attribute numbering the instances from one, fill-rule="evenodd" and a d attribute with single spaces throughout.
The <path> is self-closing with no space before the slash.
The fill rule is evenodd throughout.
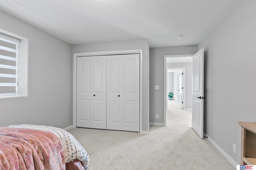
<path id="1" fill-rule="evenodd" d="M 148 130 L 148 40 L 133 40 L 122 42 L 107 42 L 107 43 L 91 43 L 91 44 L 78 44 L 72 45 L 73 53 L 84 52 L 98 52 L 98 51 L 118 51 L 118 50 L 131 50 L 143 49 L 143 70 L 142 70 L 142 130 Z M 73 57 L 72 57 L 73 58 Z"/>

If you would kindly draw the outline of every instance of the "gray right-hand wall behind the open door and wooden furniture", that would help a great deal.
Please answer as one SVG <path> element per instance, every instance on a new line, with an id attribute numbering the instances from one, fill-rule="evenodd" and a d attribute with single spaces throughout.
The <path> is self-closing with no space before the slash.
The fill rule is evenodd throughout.
<path id="1" fill-rule="evenodd" d="M 204 132 L 237 163 L 241 140 L 237 123 L 256 122 L 255 9 L 255 0 L 244 0 L 198 45 L 204 48 Z"/>

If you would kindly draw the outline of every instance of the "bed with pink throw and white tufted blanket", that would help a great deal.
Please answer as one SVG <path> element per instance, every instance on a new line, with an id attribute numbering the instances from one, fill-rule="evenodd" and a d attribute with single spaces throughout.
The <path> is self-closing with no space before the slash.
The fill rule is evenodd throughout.
<path id="1" fill-rule="evenodd" d="M 89 160 L 82 145 L 61 128 L 0 127 L 1 170 L 88 170 Z"/>

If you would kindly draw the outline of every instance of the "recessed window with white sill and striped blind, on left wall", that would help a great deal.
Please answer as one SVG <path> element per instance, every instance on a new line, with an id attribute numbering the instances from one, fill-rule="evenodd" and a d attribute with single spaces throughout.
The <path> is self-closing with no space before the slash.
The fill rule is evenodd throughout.
<path id="1" fill-rule="evenodd" d="M 27 96 L 28 39 L 0 32 L 0 99 Z"/>

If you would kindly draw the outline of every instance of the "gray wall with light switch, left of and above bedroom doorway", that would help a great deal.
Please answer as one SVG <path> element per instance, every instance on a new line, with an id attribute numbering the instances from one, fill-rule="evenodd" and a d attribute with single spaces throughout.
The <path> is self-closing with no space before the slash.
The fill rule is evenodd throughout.
<path id="1" fill-rule="evenodd" d="M 194 54 L 196 45 L 150 48 L 150 122 L 164 123 L 164 55 Z M 159 90 L 154 86 L 159 85 Z M 159 119 L 156 119 L 156 114 Z"/>

